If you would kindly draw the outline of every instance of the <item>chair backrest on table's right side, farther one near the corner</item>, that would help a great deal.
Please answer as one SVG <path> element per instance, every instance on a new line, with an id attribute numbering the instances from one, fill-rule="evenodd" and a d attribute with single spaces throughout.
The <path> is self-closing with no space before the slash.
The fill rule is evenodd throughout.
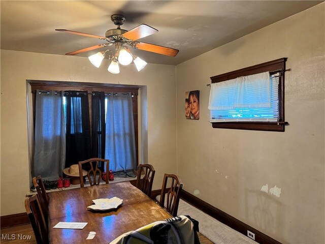
<path id="1" fill-rule="evenodd" d="M 144 176 L 141 179 L 141 173 L 144 170 Z M 150 164 L 140 164 L 137 177 L 137 188 L 144 192 L 148 197 L 151 195 L 154 173 L 156 171 Z"/>

